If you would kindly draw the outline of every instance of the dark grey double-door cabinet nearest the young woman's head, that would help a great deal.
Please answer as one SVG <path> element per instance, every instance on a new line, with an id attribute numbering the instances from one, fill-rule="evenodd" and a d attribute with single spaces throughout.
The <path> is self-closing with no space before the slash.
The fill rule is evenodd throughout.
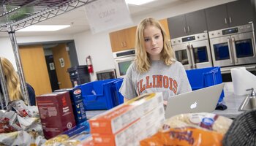
<path id="1" fill-rule="evenodd" d="M 207 31 L 206 15 L 203 9 L 167 18 L 167 23 L 171 39 Z"/>

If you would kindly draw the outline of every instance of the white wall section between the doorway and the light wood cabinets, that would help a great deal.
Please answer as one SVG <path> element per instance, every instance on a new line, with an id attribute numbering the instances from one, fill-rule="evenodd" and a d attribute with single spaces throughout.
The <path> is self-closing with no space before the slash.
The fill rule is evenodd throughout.
<path id="1" fill-rule="evenodd" d="M 107 32 L 91 34 L 91 31 L 86 31 L 76 34 L 74 39 L 80 65 L 86 64 L 86 57 L 91 55 L 94 73 L 115 68 L 110 39 Z M 95 74 L 91 74 L 91 80 L 96 80 Z"/>

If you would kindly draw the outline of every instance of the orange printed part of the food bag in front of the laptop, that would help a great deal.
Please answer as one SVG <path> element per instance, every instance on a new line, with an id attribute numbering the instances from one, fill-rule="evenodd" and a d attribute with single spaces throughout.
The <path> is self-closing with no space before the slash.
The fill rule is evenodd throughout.
<path id="1" fill-rule="evenodd" d="M 140 141 L 141 146 L 172 145 L 172 146 L 196 146 L 196 145 L 222 145 L 223 135 L 215 131 L 206 131 L 200 128 L 184 127 L 170 128 L 167 131 L 159 131 L 152 137 Z"/>

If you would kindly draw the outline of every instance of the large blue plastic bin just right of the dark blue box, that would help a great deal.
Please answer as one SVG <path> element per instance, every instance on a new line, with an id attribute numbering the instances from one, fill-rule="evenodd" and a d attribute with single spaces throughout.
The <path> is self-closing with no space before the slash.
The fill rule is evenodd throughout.
<path id="1" fill-rule="evenodd" d="M 99 80 L 80 85 L 86 110 L 109 110 L 118 105 L 114 81 L 119 79 Z"/>

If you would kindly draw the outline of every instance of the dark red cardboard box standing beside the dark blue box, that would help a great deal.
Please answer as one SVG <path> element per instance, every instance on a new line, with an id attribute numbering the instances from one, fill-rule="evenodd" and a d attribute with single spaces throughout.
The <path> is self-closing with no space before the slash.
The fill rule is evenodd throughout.
<path id="1" fill-rule="evenodd" d="M 56 137 L 75 126 L 75 117 L 69 92 L 64 91 L 37 96 L 37 107 L 45 139 Z"/>

